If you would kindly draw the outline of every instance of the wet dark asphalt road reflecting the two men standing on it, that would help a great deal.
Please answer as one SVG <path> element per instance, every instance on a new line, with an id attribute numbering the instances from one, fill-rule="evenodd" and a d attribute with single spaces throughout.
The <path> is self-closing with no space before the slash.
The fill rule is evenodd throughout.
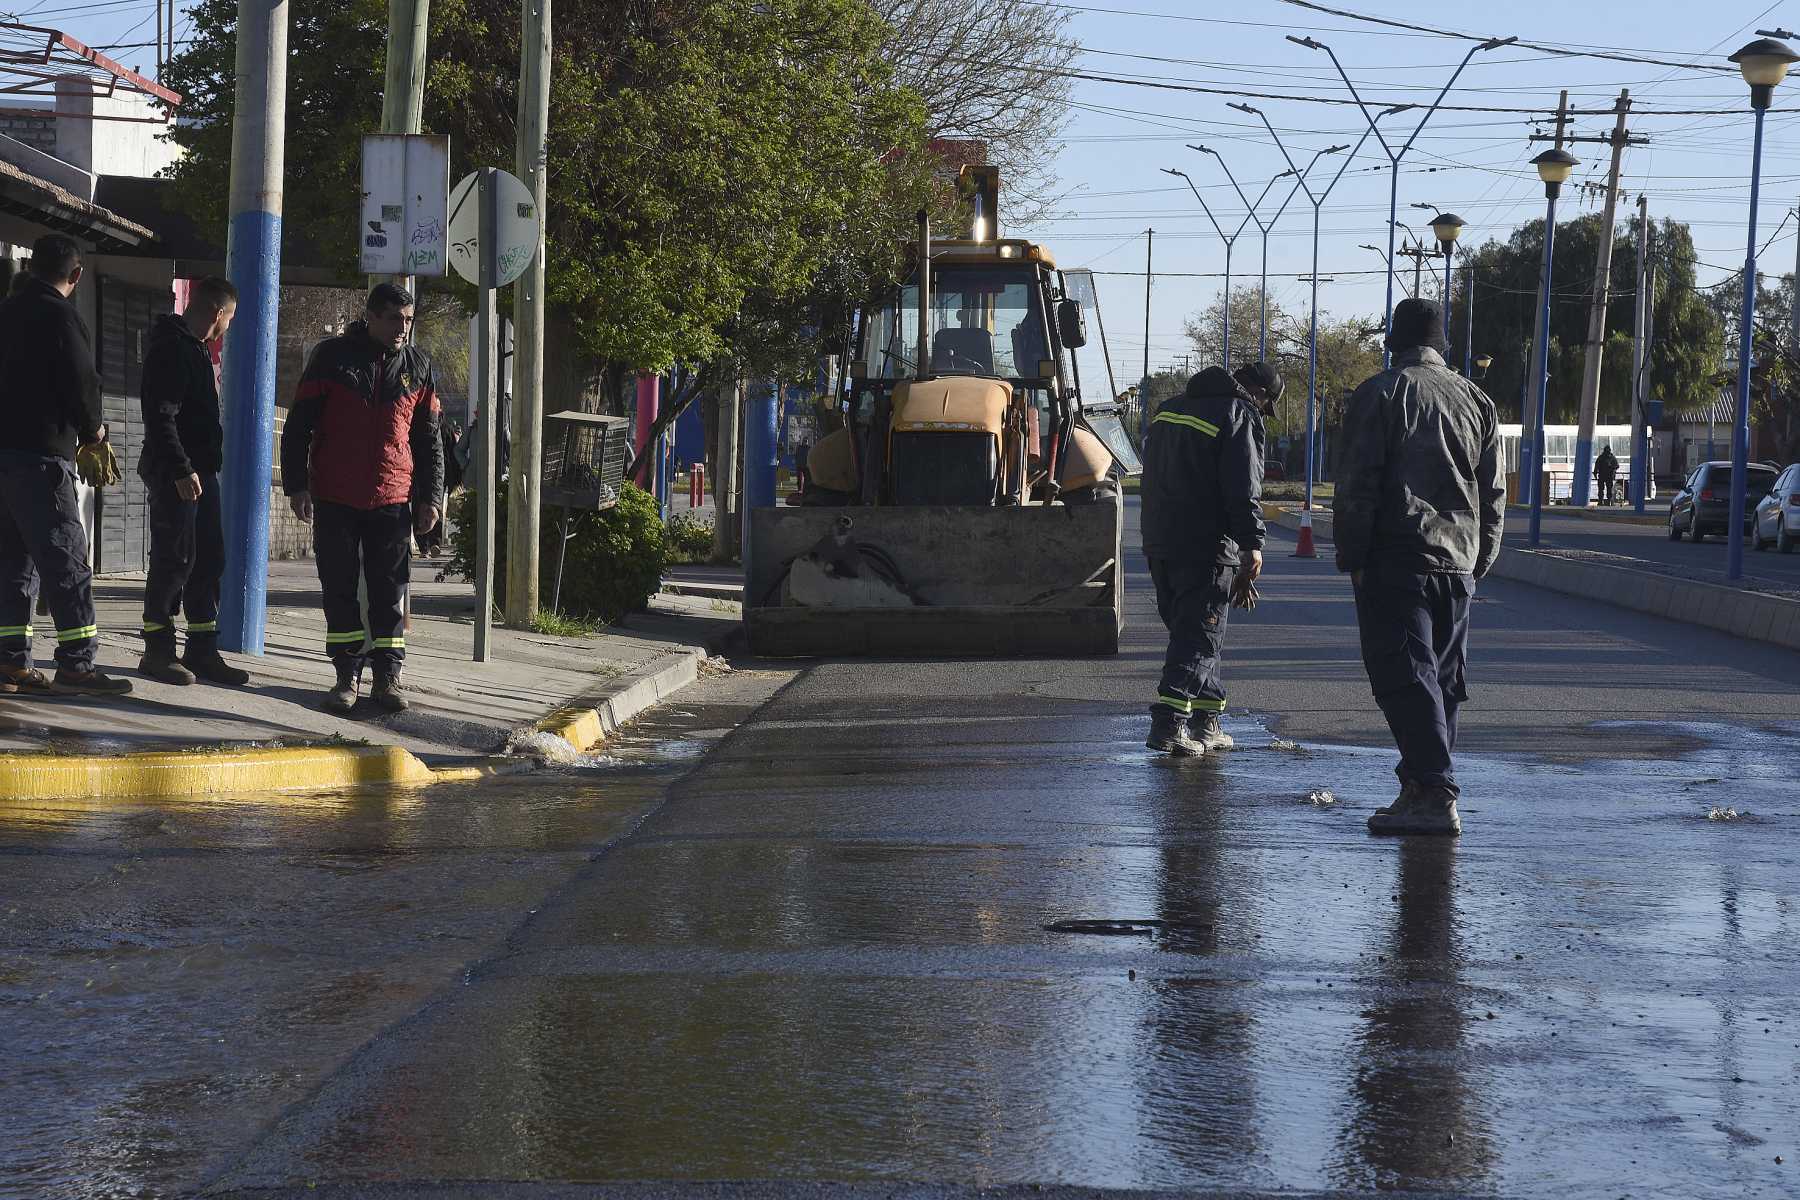
<path id="1" fill-rule="evenodd" d="M 1375 842 L 1328 567 L 1201 763 L 1134 583 L 1116 660 L 740 671 L 583 772 L 0 811 L 0 1193 L 1800 1191 L 1800 657 L 1485 587 L 1467 835 Z"/>

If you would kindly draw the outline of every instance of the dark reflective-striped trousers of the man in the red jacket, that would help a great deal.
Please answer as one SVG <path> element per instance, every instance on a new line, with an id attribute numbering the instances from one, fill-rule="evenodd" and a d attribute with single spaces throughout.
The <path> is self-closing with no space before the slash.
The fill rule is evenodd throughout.
<path id="1" fill-rule="evenodd" d="M 353 509 L 313 502 L 313 554 L 326 603 L 326 653 L 362 669 L 364 639 L 376 675 L 407 657 L 405 594 L 412 570 L 412 506 Z M 358 576 L 369 588 L 369 628 L 356 603 Z"/>

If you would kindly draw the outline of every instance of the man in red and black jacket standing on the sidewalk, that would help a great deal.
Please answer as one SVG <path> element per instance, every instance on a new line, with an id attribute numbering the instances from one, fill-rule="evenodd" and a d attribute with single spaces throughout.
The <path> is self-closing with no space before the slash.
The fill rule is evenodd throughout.
<path id="1" fill-rule="evenodd" d="M 283 488 L 293 515 L 313 524 L 326 653 L 337 667 L 326 707 L 335 712 L 356 707 L 365 657 L 374 666 L 369 698 L 389 712 L 407 707 L 400 664 L 412 534 L 437 524 L 445 473 L 432 363 L 410 331 L 412 295 L 378 284 L 364 318 L 313 351 L 281 432 Z"/>

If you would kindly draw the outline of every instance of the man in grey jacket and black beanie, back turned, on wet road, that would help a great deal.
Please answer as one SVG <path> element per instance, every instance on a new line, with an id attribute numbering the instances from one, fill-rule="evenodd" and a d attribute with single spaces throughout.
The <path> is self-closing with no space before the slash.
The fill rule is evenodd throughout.
<path id="1" fill-rule="evenodd" d="M 1462 833 L 1456 712 L 1474 581 L 1499 558 L 1494 401 L 1444 365 L 1444 309 L 1400 300 L 1393 365 L 1350 398 L 1332 540 L 1355 588 L 1370 689 L 1400 748 L 1400 795 L 1372 833 Z"/>

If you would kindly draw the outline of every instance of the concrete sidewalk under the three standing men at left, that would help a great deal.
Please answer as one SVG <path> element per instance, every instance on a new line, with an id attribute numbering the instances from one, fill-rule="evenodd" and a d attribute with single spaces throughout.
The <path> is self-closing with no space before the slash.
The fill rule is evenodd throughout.
<path id="1" fill-rule="evenodd" d="M 311 561 L 270 565 L 266 653 L 230 655 L 252 673 L 243 689 L 171 687 L 139 675 L 142 583 L 97 581 L 99 660 L 131 678 L 133 694 L 0 698 L 0 775 L 9 759 L 41 759 L 45 752 L 68 759 L 164 752 L 162 759 L 169 759 L 166 752 L 178 750 L 191 761 L 196 747 L 243 750 L 270 743 L 374 743 L 434 766 L 468 766 L 504 750 L 515 730 L 547 720 L 547 729 L 571 741 L 610 732 L 691 682 L 707 648 L 736 628 L 731 606 L 657 596 L 648 612 L 589 637 L 497 626 L 491 658 L 477 664 L 472 587 L 439 583 L 436 572 L 436 563 L 414 565 L 403 684 L 412 709 L 385 714 L 364 700 L 347 718 L 320 707 L 333 676 Z M 40 633 L 32 649 L 49 667 L 50 639 Z M 365 770 L 360 766 L 355 779 L 367 779 Z"/>

